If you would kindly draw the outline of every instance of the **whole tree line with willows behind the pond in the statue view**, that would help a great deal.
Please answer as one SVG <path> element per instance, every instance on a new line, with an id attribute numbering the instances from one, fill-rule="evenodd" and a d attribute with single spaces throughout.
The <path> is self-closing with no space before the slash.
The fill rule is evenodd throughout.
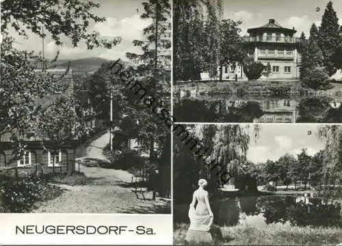
<path id="1" fill-rule="evenodd" d="M 257 185 L 275 182 L 289 185 L 302 181 L 312 186 L 341 184 L 342 127 L 319 127 L 317 137 L 326 144 L 324 149 L 309 156 L 306 149 L 293 156 L 289 153 L 278 160 L 261 164 L 250 162 L 246 155 L 251 140 L 263 134 L 259 125 L 188 125 L 194 138 L 209 147 L 204 156 L 190 151 L 181 137 L 174 134 L 174 199 L 182 203 L 189 199 L 199 178 L 209 180 L 209 190 L 215 193 L 223 184 L 234 184 L 239 190 L 257 191 Z M 209 164 L 211 163 L 211 164 Z M 186 177 L 186 178 L 185 178 Z"/>

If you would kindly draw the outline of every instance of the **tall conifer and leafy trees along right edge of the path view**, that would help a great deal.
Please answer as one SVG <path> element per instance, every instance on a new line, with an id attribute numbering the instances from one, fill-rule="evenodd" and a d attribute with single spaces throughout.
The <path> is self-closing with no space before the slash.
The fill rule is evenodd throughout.
<path id="1" fill-rule="evenodd" d="M 127 53 L 132 66 L 122 64 L 120 68 L 118 65 L 113 67 L 113 62 L 103 64 L 88 79 L 89 93 L 96 116 L 111 129 L 118 129 L 127 138 L 135 138 L 140 151 L 149 153 L 150 165 L 157 165 L 163 172 L 164 166 L 170 168 L 170 158 L 165 158 L 166 153 L 170 155 L 170 150 L 166 149 L 170 146 L 170 130 L 152 112 L 155 105 L 148 108 L 144 99 L 150 97 L 163 108 L 170 109 L 171 4 L 168 0 L 150 0 L 143 5 L 141 18 L 151 19 L 153 23 L 143 29 L 144 40 L 133 40 L 133 45 L 141 47 L 142 52 Z M 135 95 L 130 86 L 124 85 L 128 82 L 144 86 L 146 97 L 139 100 L 141 95 Z M 109 119 L 111 98 L 112 121 Z M 170 172 L 164 177 L 165 183 L 168 180 Z"/>

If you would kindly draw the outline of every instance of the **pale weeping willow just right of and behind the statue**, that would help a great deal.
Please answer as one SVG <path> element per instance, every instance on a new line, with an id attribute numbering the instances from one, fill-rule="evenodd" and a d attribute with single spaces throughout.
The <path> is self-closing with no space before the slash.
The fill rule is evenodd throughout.
<path id="1" fill-rule="evenodd" d="M 254 125 L 253 135 L 251 136 L 250 125 L 205 125 L 202 127 L 202 139 L 211 145 L 209 161 L 216 163 L 213 165 L 202 165 L 202 175 L 210 180 L 210 188 L 223 186 L 235 178 L 243 184 L 239 186 L 246 190 L 246 177 L 254 177 L 256 171 L 254 164 L 247 161 L 247 151 L 250 140 L 259 137 L 259 125 Z M 207 145 L 208 146 L 208 145 Z M 207 160 L 208 162 L 208 160 Z M 256 182 L 252 182 L 256 184 Z M 252 189 L 255 189 L 253 187 Z M 251 187 L 248 188 L 251 190 Z"/>

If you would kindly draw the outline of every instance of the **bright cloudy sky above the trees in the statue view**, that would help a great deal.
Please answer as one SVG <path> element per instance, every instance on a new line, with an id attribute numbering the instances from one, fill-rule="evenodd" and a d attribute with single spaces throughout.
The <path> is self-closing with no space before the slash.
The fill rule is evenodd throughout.
<path id="1" fill-rule="evenodd" d="M 313 156 L 324 149 L 324 142 L 317 138 L 317 129 L 318 126 L 313 124 L 261 125 L 259 138 L 250 141 L 247 158 L 254 163 L 278 160 L 285 153 L 296 155 L 302 148 Z"/>

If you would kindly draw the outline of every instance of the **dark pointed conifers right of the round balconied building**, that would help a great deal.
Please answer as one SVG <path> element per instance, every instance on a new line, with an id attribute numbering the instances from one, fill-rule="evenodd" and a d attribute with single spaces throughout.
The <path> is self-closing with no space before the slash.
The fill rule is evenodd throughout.
<path id="1" fill-rule="evenodd" d="M 329 1 L 321 18 L 321 26 L 313 23 L 308 42 L 300 47 L 300 78 L 304 85 L 314 89 L 330 88 L 329 77 L 342 67 L 341 34 L 339 19 Z M 301 38 L 305 38 L 303 33 Z"/>

